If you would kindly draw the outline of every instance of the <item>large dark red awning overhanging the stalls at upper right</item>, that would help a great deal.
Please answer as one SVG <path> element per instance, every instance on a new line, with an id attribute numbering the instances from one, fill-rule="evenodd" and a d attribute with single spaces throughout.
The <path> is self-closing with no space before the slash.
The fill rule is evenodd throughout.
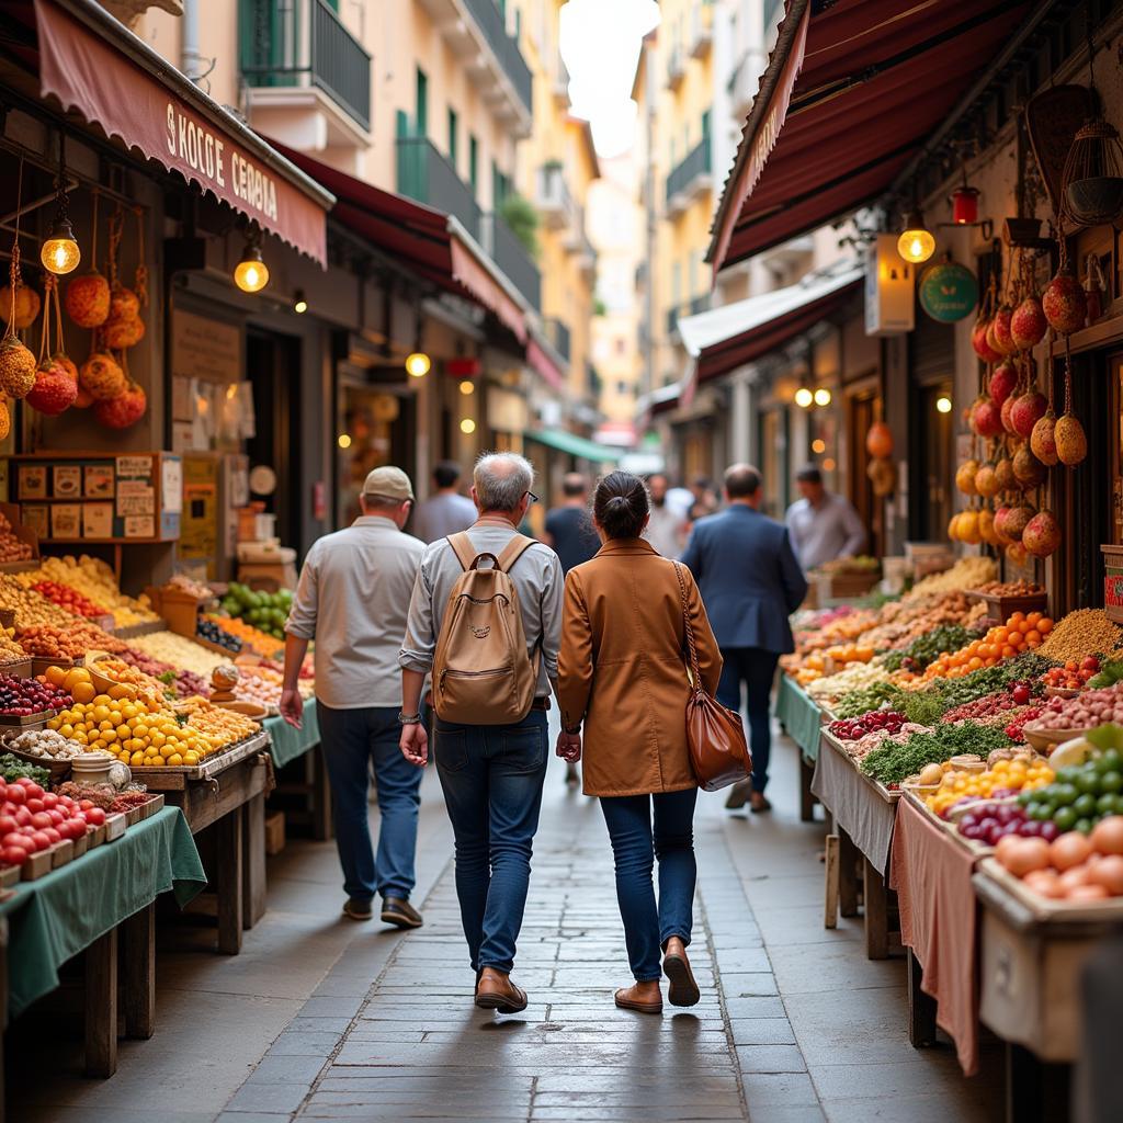
<path id="1" fill-rule="evenodd" d="M 714 219 L 714 272 L 883 194 L 1023 29 L 1025 0 L 787 0 Z"/>

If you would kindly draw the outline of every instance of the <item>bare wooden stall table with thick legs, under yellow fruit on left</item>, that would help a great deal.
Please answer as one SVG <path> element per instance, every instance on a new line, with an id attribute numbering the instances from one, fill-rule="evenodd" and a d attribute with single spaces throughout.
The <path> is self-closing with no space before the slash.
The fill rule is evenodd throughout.
<path id="1" fill-rule="evenodd" d="M 194 767 L 138 769 L 149 791 L 179 807 L 192 834 L 214 828 L 218 950 L 236 956 L 244 929 L 265 912 L 265 796 L 270 734 L 262 730 Z"/>

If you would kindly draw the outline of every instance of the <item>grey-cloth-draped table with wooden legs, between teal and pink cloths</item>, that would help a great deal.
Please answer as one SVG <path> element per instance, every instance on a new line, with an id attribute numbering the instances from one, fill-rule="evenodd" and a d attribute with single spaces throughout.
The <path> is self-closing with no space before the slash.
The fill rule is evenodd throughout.
<path id="1" fill-rule="evenodd" d="M 827 840 L 824 923 L 834 928 L 839 911 L 857 915 L 860 895 L 866 956 L 885 959 L 901 947 L 896 896 L 888 888 L 901 793 L 871 780 L 825 729 L 821 738 L 811 791 L 833 825 Z"/>

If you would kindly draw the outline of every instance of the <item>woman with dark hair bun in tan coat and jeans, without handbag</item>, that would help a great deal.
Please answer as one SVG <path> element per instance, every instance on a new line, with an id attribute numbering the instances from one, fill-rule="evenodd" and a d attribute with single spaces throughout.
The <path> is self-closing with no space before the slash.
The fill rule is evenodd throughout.
<path id="1" fill-rule="evenodd" d="M 593 522 L 603 545 L 591 562 L 570 569 L 565 583 L 558 755 L 577 760 L 584 741 L 585 794 L 601 797 L 612 840 L 617 897 L 636 977 L 634 986 L 617 992 L 617 1005 L 658 1014 L 660 950 L 672 1005 L 699 1001 L 686 958 L 697 784 L 686 747 L 691 691 L 679 576 L 710 692 L 718 686 L 721 655 L 690 569 L 640 537 L 648 517 L 647 490 L 637 476 L 613 472 L 597 485 Z"/>

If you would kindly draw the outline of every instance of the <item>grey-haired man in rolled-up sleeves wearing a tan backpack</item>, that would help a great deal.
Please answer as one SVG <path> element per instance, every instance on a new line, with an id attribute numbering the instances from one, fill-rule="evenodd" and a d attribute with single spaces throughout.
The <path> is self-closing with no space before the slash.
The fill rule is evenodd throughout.
<path id="1" fill-rule="evenodd" d="M 423 767 L 421 691 L 432 676 L 437 774 L 456 838 L 456 893 L 476 971 L 475 1003 L 509 1014 L 548 759 L 564 578 L 557 555 L 518 532 L 537 496 L 521 456 L 476 464 L 480 518 L 421 558 L 402 646 L 401 750 Z"/>

